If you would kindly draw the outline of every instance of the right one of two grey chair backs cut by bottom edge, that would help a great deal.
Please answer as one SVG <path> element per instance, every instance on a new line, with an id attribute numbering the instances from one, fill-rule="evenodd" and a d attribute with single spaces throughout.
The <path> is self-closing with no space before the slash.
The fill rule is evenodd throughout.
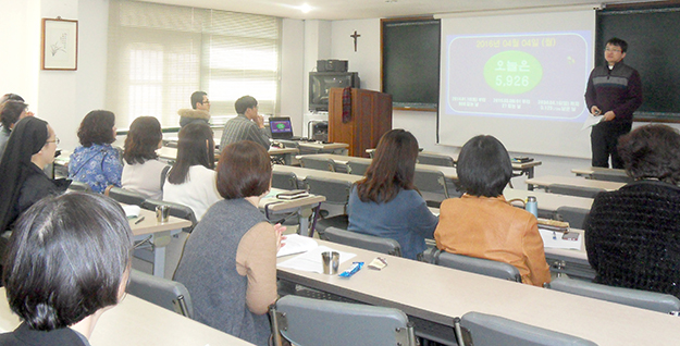
<path id="1" fill-rule="evenodd" d="M 578 336 L 474 311 L 456 319 L 454 328 L 458 346 L 597 346 Z"/>

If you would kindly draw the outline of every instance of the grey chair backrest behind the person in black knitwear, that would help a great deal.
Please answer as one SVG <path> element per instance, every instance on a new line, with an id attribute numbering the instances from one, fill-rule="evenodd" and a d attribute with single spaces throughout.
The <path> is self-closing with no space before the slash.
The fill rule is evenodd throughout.
<path id="1" fill-rule="evenodd" d="M 680 311 L 680 299 L 658 292 L 614 287 L 567 277 L 555 279 L 549 283 L 549 288 L 665 313 Z"/>

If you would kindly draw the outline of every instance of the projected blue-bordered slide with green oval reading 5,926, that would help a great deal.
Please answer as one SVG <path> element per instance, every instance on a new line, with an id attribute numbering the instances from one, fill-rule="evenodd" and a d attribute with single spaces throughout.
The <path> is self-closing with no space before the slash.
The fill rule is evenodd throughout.
<path id="1" fill-rule="evenodd" d="M 449 35 L 446 112 L 582 122 L 591 35 Z"/>

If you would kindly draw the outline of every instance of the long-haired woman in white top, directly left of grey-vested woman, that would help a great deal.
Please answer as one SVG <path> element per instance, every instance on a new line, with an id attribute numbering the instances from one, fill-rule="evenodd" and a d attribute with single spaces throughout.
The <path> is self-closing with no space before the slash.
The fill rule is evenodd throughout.
<path id="1" fill-rule="evenodd" d="M 191 123 L 180 131 L 177 160 L 168 172 L 163 200 L 188 206 L 196 220 L 220 200 L 215 185 L 214 141 L 212 129 L 203 123 Z"/>

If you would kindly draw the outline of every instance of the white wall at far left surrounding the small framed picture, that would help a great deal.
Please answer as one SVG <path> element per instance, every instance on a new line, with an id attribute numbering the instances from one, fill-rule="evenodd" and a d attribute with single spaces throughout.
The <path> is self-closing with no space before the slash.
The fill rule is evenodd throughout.
<path id="1" fill-rule="evenodd" d="M 61 148 L 77 145 L 76 131 L 85 114 L 103 106 L 108 0 L 2 0 L 0 94 L 24 97 L 36 116 L 46 120 Z M 42 18 L 78 21 L 78 70 L 41 71 Z"/>

